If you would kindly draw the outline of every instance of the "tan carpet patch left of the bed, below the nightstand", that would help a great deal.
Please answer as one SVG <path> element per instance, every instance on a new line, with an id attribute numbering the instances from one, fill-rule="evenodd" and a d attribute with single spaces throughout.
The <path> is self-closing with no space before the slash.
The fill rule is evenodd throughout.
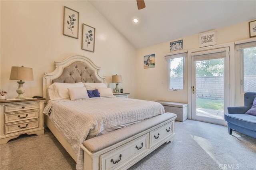
<path id="1" fill-rule="evenodd" d="M 21 135 L 0 146 L 1 170 L 75 170 L 76 162 L 48 128 L 44 135 Z"/>

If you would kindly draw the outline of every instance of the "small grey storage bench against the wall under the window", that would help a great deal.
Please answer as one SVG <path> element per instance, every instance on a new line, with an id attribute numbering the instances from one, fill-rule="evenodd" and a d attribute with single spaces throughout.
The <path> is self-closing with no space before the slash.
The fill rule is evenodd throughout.
<path id="1" fill-rule="evenodd" d="M 164 106 L 166 112 L 175 113 L 176 121 L 184 122 L 188 119 L 188 103 L 177 103 L 171 101 L 156 101 Z"/>

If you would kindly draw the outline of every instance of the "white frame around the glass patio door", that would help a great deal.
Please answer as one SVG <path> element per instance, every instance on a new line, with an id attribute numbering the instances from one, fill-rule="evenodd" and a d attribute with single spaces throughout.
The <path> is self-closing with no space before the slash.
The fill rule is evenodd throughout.
<path id="1" fill-rule="evenodd" d="M 192 53 L 206 51 L 211 49 L 218 49 L 218 48 L 225 48 L 229 47 L 230 57 L 229 57 L 229 67 L 230 67 L 230 75 L 229 75 L 229 82 L 230 82 L 230 101 L 229 105 L 235 105 L 235 44 L 234 42 L 231 43 L 224 43 L 209 47 L 202 47 L 197 49 L 190 49 L 188 50 L 188 119 L 192 119 Z"/>

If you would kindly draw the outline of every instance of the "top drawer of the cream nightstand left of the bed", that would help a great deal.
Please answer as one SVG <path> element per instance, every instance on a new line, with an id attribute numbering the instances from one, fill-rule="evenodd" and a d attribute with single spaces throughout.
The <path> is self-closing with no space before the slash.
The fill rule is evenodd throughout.
<path id="1" fill-rule="evenodd" d="M 5 113 L 16 112 L 16 111 L 26 111 L 26 110 L 32 110 L 32 109 L 39 109 L 39 103 L 28 103 L 28 104 L 21 104 L 21 105 L 6 105 Z"/>

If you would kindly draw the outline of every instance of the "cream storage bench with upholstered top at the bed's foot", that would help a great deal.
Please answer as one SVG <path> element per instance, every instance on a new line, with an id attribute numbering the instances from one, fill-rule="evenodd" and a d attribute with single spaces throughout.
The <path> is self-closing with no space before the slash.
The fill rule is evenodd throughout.
<path id="1" fill-rule="evenodd" d="M 174 141 L 175 118 L 174 113 L 164 113 L 85 140 L 84 170 L 129 168 L 163 143 Z"/>

